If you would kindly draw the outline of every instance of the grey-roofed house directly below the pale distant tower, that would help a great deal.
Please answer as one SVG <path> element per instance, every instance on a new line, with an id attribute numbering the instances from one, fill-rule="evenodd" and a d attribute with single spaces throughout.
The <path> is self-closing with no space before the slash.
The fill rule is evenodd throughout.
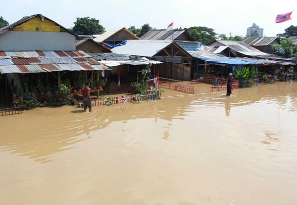
<path id="1" fill-rule="evenodd" d="M 278 37 L 248 37 L 243 40 L 244 43 L 266 53 L 272 52 L 272 45 L 279 44 Z"/>

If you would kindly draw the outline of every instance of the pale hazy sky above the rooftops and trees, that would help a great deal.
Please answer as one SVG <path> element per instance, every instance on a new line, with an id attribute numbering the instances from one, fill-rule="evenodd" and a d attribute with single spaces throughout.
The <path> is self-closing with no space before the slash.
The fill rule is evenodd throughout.
<path id="1" fill-rule="evenodd" d="M 2 4 L 3 5 L 3 4 Z M 285 33 L 297 26 L 297 0 L 9 0 L 1 7 L 0 16 L 9 24 L 24 16 L 42 14 L 65 28 L 72 28 L 77 17 L 99 20 L 105 30 L 141 28 L 149 24 L 166 29 L 205 26 L 227 37 L 247 34 L 255 23 L 265 37 Z M 275 23 L 277 14 L 293 11 L 292 20 Z"/>

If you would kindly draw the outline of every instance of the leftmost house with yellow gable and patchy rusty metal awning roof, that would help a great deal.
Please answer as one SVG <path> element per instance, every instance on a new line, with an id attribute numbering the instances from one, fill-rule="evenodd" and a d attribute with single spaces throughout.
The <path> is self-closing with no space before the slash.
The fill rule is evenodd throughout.
<path id="1" fill-rule="evenodd" d="M 28 87 L 37 82 L 54 85 L 66 78 L 74 83 L 87 75 L 93 80 L 93 71 L 99 76 L 108 70 L 87 53 L 76 51 L 76 39 L 80 38 L 42 14 L 1 28 L 0 78 L 5 82 L 6 98 L 25 81 Z"/>

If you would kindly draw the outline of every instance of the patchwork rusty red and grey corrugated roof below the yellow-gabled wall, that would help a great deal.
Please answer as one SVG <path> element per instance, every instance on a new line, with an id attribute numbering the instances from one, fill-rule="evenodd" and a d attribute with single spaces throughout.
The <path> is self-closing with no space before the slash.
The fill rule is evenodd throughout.
<path id="1" fill-rule="evenodd" d="M 110 70 L 84 51 L 0 51 L 0 73 Z"/>

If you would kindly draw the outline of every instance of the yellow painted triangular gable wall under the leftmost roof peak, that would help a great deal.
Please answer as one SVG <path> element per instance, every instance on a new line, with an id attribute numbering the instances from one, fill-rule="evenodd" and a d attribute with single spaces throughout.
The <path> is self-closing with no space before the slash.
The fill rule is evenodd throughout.
<path id="1" fill-rule="evenodd" d="M 46 31 L 46 32 L 60 32 L 60 27 L 56 26 L 54 22 L 45 19 L 41 20 L 39 17 L 32 18 L 25 23 L 18 25 L 12 31 Z"/>

